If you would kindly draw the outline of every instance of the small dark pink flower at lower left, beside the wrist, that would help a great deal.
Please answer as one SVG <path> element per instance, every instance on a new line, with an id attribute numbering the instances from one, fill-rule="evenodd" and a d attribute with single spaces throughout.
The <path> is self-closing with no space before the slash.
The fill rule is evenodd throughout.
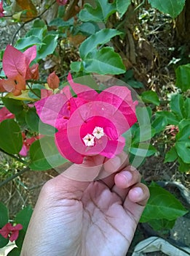
<path id="1" fill-rule="evenodd" d="M 21 224 L 17 224 L 15 226 L 12 226 L 11 223 L 7 223 L 4 225 L 4 227 L 1 228 L 0 234 L 4 238 L 9 237 L 9 241 L 15 241 L 18 238 L 19 230 L 22 230 L 23 226 Z"/>

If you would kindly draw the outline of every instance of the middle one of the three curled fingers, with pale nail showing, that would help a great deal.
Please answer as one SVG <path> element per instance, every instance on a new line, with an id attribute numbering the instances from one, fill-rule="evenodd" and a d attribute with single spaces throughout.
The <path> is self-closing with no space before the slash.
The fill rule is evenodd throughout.
<path id="1" fill-rule="evenodd" d="M 140 173 L 135 167 L 127 166 L 124 170 L 120 173 L 117 173 L 115 178 L 115 185 L 111 189 L 112 192 L 115 192 L 118 195 L 122 202 L 124 201 L 125 197 L 127 196 L 130 188 L 140 182 Z"/>

